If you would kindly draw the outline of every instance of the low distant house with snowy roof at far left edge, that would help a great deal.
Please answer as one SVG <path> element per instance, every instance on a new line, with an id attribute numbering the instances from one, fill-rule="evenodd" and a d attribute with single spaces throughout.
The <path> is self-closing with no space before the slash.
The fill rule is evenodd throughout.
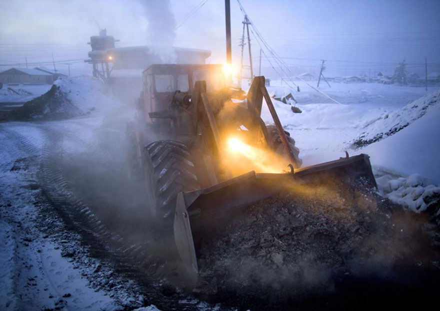
<path id="1" fill-rule="evenodd" d="M 53 75 L 37 69 L 10 68 L 0 72 L 2 83 L 53 83 Z"/>

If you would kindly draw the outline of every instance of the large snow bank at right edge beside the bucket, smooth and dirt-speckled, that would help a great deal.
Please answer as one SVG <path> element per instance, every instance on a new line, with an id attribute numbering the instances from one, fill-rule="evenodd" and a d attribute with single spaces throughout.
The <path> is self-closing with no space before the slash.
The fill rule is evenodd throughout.
<path id="1" fill-rule="evenodd" d="M 379 191 L 417 213 L 440 202 L 439 98 L 437 90 L 372 123 L 363 141 L 373 143 L 360 150 L 371 157 Z"/>

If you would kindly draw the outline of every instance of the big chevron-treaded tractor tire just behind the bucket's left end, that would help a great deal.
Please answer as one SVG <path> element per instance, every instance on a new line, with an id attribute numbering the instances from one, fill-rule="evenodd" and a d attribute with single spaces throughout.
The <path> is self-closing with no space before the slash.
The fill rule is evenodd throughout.
<path id="1" fill-rule="evenodd" d="M 194 163 L 185 144 L 159 140 L 144 148 L 148 204 L 155 219 L 171 219 L 179 192 L 199 189 Z"/>

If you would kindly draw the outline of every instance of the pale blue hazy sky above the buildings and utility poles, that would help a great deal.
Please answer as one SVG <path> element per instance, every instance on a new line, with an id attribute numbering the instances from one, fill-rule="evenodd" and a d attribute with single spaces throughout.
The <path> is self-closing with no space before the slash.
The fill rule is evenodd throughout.
<path id="1" fill-rule="evenodd" d="M 230 1 L 233 62 L 239 63 L 243 15 L 236 0 Z M 224 61 L 224 1 L 207 0 L 181 25 L 201 0 L 170 0 L 167 12 L 161 11 L 163 3 L 7 0 L 0 11 L 0 63 L 24 62 L 24 57 L 28 62 L 49 61 L 51 52 L 57 60 L 86 58 L 89 46 L 85 43 L 99 28 L 107 28 L 108 34 L 120 39 L 117 46 L 151 43 L 150 38 L 161 38 L 163 34 L 166 41 L 174 38 L 175 46 L 211 50 L 211 62 Z M 280 56 L 292 58 L 285 59 L 292 65 L 318 67 L 319 59 L 326 59 L 327 70 L 386 70 L 405 58 L 414 63 L 408 69 L 417 71 L 422 69 L 425 56 L 429 63 L 440 63 L 440 0 L 241 3 L 267 43 Z M 180 26 L 173 32 L 174 27 L 166 27 L 164 20 Z M 257 68 L 259 47 L 253 36 L 251 40 Z M 75 66 L 84 64 L 78 62 Z M 264 58 L 262 66 L 269 66 Z M 440 71 L 438 66 L 430 68 Z"/>

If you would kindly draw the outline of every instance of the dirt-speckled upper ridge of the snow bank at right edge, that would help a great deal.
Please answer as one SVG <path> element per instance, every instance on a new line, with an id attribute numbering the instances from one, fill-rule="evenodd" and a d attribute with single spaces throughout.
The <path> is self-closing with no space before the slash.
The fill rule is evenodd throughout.
<path id="1" fill-rule="evenodd" d="M 400 109 L 384 113 L 379 118 L 366 122 L 362 126 L 364 131 L 353 144 L 362 147 L 393 135 L 425 115 L 430 107 L 438 106 L 439 102 L 440 89 L 437 89 Z"/>

